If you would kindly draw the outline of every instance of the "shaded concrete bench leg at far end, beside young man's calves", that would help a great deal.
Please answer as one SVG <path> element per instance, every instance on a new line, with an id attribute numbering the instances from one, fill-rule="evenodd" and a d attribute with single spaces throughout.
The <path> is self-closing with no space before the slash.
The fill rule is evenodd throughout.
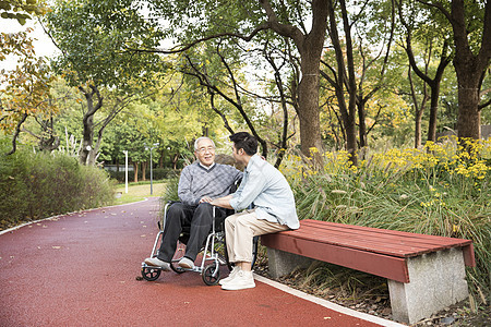
<path id="1" fill-rule="evenodd" d="M 267 266 L 273 278 L 288 275 L 297 268 L 307 268 L 312 262 L 309 257 L 267 247 Z"/>

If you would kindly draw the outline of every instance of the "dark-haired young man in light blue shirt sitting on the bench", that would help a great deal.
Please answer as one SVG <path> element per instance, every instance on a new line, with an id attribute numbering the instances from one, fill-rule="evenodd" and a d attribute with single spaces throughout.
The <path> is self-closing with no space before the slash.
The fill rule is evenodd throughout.
<path id="1" fill-rule="evenodd" d="M 294 193 L 285 177 L 262 159 L 258 141 L 246 132 L 230 136 L 233 158 L 246 167 L 242 182 L 236 193 L 211 202 L 237 211 L 225 220 L 228 257 L 235 267 L 229 277 L 220 280 L 224 290 L 255 287 L 251 271 L 252 239 L 256 235 L 299 228 Z"/>

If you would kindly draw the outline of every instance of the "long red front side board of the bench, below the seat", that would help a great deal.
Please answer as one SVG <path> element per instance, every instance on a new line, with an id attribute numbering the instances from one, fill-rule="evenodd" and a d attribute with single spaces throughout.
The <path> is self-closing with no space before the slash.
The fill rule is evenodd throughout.
<path id="1" fill-rule="evenodd" d="M 396 281 L 409 282 L 407 263 L 402 257 L 337 246 L 335 244 L 323 244 L 321 250 L 319 242 L 291 237 L 286 232 L 262 235 L 261 244 Z"/>

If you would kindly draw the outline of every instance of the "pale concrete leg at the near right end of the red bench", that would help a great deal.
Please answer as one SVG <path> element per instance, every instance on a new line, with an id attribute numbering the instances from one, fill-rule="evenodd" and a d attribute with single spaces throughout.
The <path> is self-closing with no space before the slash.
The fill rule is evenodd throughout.
<path id="1" fill-rule="evenodd" d="M 462 249 L 408 258 L 409 282 L 388 280 L 395 320 L 415 324 L 469 295 Z"/>

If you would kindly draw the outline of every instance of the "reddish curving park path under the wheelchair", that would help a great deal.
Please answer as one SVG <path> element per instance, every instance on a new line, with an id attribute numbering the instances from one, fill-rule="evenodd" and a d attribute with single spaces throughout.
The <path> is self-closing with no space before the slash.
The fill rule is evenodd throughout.
<path id="1" fill-rule="evenodd" d="M 139 280 L 158 210 L 151 198 L 2 232 L 0 326 L 395 326 L 333 311 L 264 278 L 243 291 L 207 287 L 195 272 Z"/>

